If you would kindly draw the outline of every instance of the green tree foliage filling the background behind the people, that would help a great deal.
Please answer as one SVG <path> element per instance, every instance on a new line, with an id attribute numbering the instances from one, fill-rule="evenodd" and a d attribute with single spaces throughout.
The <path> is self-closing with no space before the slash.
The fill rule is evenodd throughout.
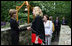
<path id="1" fill-rule="evenodd" d="M 10 16 L 8 15 L 9 9 L 15 9 L 16 6 L 20 6 L 24 1 L 1 1 L 1 21 L 9 21 Z M 43 14 L 47 14 L 48 16 L 53 16 L 55 20 L 58 16 L 60 20 L 64 16 L 68 24 L 71 27 L 71 1 L 29 1 L 31 7 L 39 6 Z M 24 5 L 18 15 L 19 20 L 27 21 L 27 12 L 24 12 L 26 5 Z M 25 19 L 26 18 L 26 19 Z M 32 10 L 30 9 L 30 18 L 32 19 Z"/>

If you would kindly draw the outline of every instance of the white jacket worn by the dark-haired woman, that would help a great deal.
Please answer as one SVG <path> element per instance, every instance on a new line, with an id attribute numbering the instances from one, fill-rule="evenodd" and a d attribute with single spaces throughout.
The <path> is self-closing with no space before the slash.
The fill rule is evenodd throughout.
<path id="1" fill-rule="evenodd" d="M 52 21 L 47 20 L 46 23 L 44 22 L 45 34 L 52 36 L 53 33 L 52 26 L 53 26 Z"/>

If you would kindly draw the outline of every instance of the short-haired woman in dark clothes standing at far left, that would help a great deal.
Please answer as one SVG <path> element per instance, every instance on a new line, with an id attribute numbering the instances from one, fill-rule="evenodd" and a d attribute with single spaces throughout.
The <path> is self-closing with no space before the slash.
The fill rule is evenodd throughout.
<path id="1" fill-rule="evenodd" d="M 11 34 L 11 43 L 12 45 L 18 45 L 19 44 L 19 28 L 18 28 L 18 22 L 16 21 L 16 10 L 10 9 L 9 15 L 11 17 L 10 19 L 10 34 Z"/>

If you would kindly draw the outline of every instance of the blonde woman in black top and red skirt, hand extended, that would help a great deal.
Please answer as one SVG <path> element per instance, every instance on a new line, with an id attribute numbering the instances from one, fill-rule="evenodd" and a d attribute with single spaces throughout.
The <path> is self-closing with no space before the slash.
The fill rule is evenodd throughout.
<path id="1" fill-rule="evenodd" d="M 32 30 L 31 37 L 33 45 L 41 45 L 45 40 L 45 31 L 42 20 L 43 13 L 38 6 L 33 8 L 33 15 L 35 15 L 35 19 L 32 22 L 32 26 L 27 27 L 27 29 Z"/>

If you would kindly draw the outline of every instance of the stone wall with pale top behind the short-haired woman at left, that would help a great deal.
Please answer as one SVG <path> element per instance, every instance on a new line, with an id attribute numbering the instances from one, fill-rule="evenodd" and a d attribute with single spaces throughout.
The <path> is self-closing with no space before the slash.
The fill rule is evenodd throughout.
<path id="1" fill-rule="evenodd" d="M 26 28 L 31 24 L 20 25 L 20 29 Z M 10 27 L 1 28 L 1 45 L 11 45 L 10 37 Z M 31 43 L 31 31 L 22 31 L 19 34 L 19 44 L 20 45 L 32 45 Z"/>

